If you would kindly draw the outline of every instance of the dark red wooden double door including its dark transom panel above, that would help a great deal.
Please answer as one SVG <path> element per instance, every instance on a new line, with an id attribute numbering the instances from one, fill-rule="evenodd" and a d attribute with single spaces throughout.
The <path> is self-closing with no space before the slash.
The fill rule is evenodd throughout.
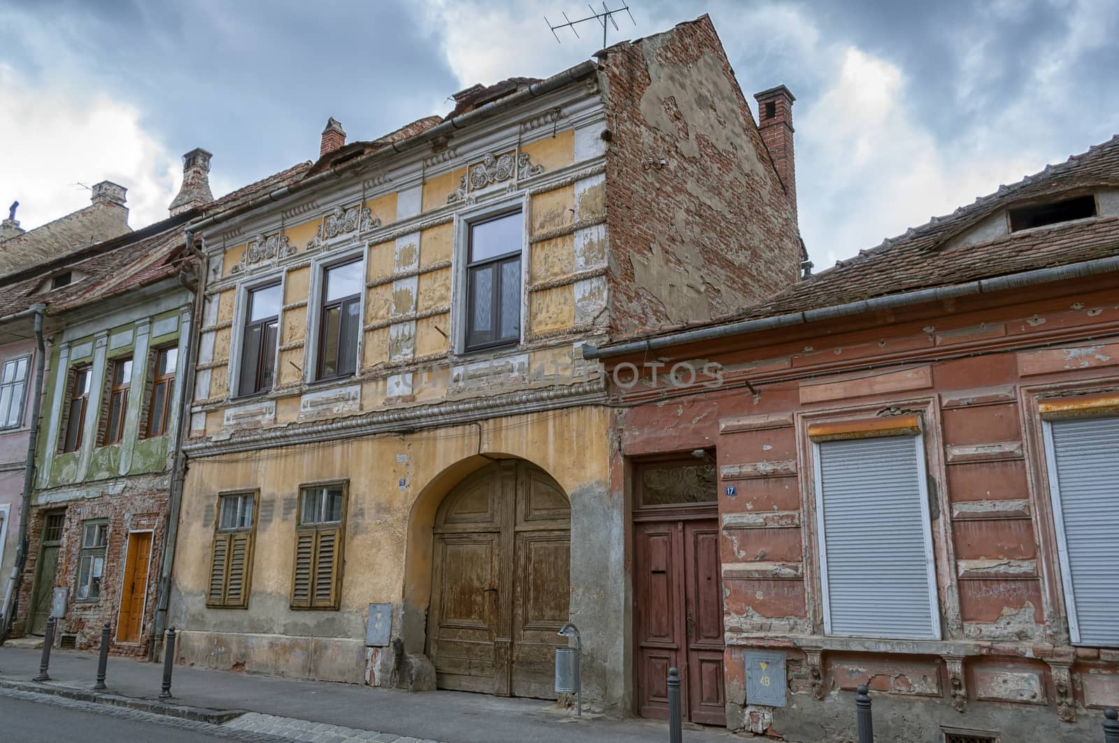
<path id="1" fill-rule="evenodd" d="M 687 460 L 656 462 L 638 468 L 634 493 L 638 714 L 668 717 L 668 669 L 675 666 L 684 717 L 725 725 L 714 470 Z"/>

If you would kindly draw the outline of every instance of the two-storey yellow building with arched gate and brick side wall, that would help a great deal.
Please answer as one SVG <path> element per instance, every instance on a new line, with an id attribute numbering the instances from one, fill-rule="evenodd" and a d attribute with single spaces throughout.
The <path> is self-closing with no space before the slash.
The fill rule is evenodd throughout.
<path id="1" fill-rule="evenodd" d="M 345 137 L 190 225 L 179 657 L 551 697 L 572 621 L 587 698 L 629 714 L 627 506 L 577 348 L 794 281 L 791 184 L 706 17 Z"/>

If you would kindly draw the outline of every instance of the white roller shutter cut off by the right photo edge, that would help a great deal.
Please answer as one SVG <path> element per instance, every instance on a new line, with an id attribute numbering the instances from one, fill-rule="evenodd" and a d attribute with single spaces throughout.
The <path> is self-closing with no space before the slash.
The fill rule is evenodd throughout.
<path id="1" fill-rule="evenodd" d="M 1076 645 L 1119 646 L 1119 417 L 1045 424 L 1045 448 Z"/>

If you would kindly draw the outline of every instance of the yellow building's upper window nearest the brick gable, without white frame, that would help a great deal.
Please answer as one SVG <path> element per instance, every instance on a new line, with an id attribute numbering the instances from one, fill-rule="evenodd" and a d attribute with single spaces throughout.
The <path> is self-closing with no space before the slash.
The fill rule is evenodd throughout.
<path id="1" fill-rule="evenodd" d="M 467 350 L 520 339 L 520 211 L 470 225 L 467 246 Z"/>

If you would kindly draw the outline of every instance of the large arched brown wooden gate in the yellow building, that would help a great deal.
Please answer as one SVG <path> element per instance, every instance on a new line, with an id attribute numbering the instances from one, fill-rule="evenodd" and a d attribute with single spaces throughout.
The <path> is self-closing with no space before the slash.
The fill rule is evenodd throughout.
<path id="1" fill-rule="evenodd" d="M 571 506 L 524 460 L 488 464 L 439 507 L 427 657 L 444 689 L 555 698 L 567 621 Z"/>

